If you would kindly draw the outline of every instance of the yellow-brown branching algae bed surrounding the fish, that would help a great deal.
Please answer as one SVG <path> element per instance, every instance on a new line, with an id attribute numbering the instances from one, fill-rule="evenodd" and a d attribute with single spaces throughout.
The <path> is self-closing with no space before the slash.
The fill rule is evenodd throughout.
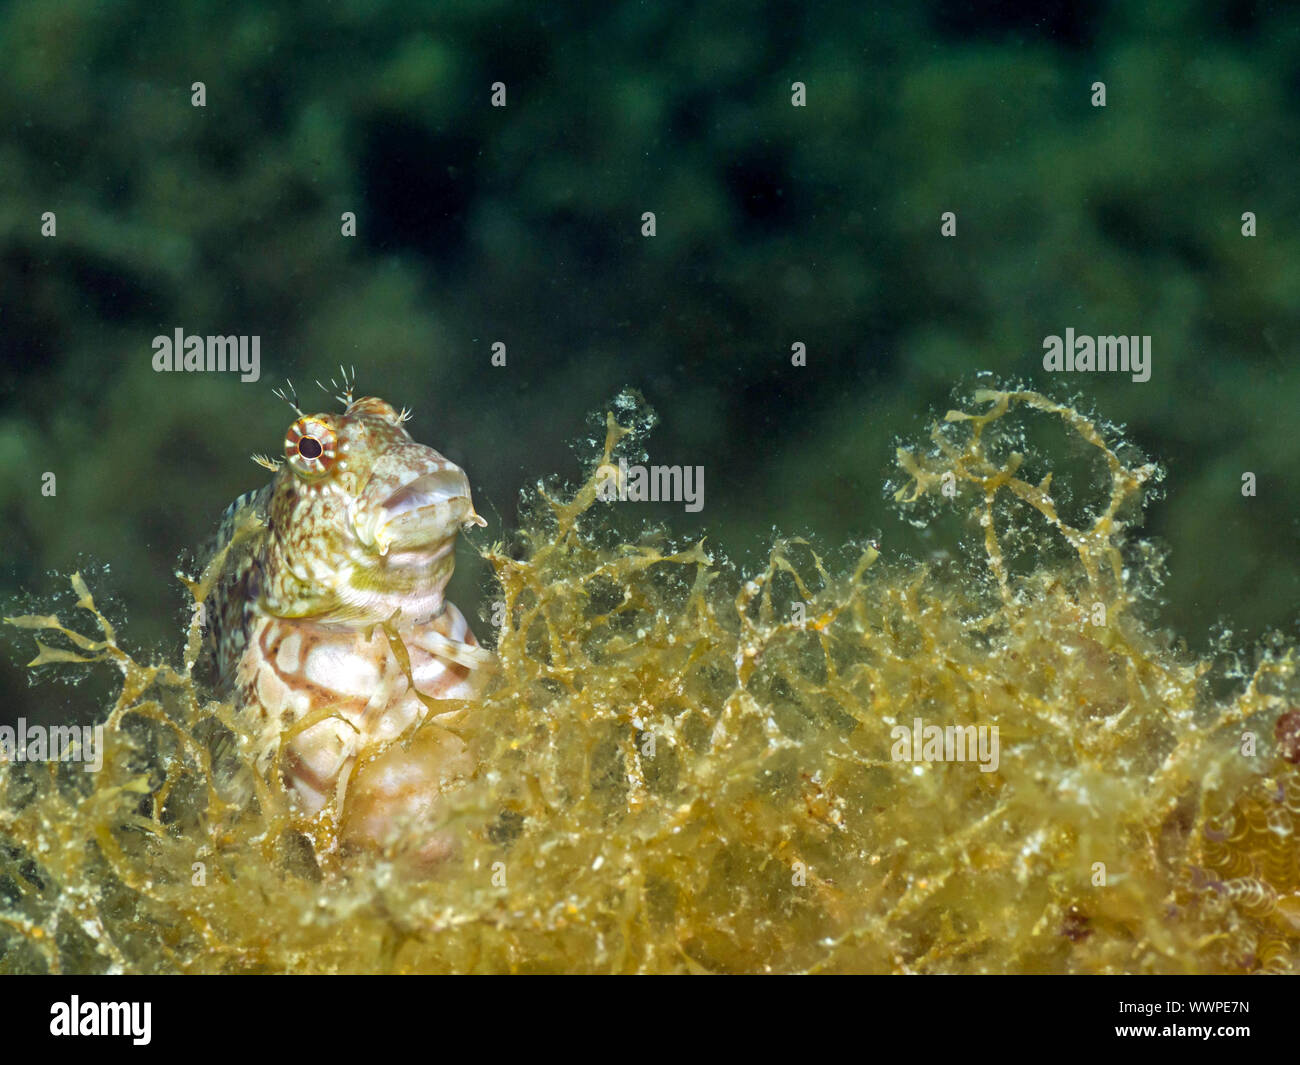
<path id="1" fill-rule="evenodd" d="M 400 845 L 317 861 L 190 676 L 198 620 L 144 666 L 81 577 L 78 619 L 10 619 L 122 689 L 101 771 L 0 767 L 0 967 L 1291 971 L 1295 649 L 1202 659 L 1158 629 L 1132 532 L 1158 467 L 980 390 L 900 449 L 894 492 L 968 520 L 965 555 L 779 540 L 741 573 L 619 532 L 601 484 L 646 424 L 623 398 L 585 482 L 481 547 L 500 670 L 433 878 Z M 1044 467 L 1048 434 L 1076 469 Z"/>

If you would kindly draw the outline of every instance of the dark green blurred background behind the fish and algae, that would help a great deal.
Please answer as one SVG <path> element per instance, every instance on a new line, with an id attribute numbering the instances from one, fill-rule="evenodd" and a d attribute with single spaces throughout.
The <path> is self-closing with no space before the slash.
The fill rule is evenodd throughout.
<path id="1" fill-rule="evenodd" d="M 1167 624 L 1295 637 L 1294 5 L 555 7 L 0 5 L 3 612 L 66 607 L 81 567 L 129 646 L 176 654 L 172 573 L 264 482 L 272 388 L 333 408 L 339 363 L 468 469 L 491 534 L 634 386 L 651 462 L 706 468 L 699 514 L 647 516 L 742 562 L 774 525 L 932 549 L 881 494 L 893 441 L 989 371 L 1167 466 Z M 261 381 L 155 373 L 178 326 L 260 335 Z M 1067 326 L 1150 334 L 1152 380 L 1044 373 Z M 30 633 L 0 650 L 0 717 L 75 701 L 29 687 Z"/>

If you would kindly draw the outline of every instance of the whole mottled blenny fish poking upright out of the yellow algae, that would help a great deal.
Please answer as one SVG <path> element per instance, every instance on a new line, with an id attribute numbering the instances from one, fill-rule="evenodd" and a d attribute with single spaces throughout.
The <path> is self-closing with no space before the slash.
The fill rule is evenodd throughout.
<path id="1" fill-rule="evenodd" d="M 455 720 L 494 662 L 443 598 L 456 534 L 486 524 L 465 472 L 416 443 L 407 411 L 374 397 L 298 415 L 274 472 L 237 499 L 217 534 L 205 646 L 218 690 L 251 726 L 257 767 L 278 765 L 317 853 L 384 845 L 398 822 L 430 822 L 472 769 Z M 289 397 L 282 397 L 289 399 Z M 425 862 L 451 843 L 432 827 Z"/>

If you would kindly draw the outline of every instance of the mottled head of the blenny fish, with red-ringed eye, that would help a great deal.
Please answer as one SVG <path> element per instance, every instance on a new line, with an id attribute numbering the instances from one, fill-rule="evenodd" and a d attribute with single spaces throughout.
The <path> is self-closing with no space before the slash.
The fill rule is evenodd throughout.
<path id="1" fill-rule="evenodd" d="M 404 421 L 367 397 L 289 427 L 266 507 L 261 611 L 367 625 L 442 609 L 456 533 L 486 521 L 465 472 Z"/>

